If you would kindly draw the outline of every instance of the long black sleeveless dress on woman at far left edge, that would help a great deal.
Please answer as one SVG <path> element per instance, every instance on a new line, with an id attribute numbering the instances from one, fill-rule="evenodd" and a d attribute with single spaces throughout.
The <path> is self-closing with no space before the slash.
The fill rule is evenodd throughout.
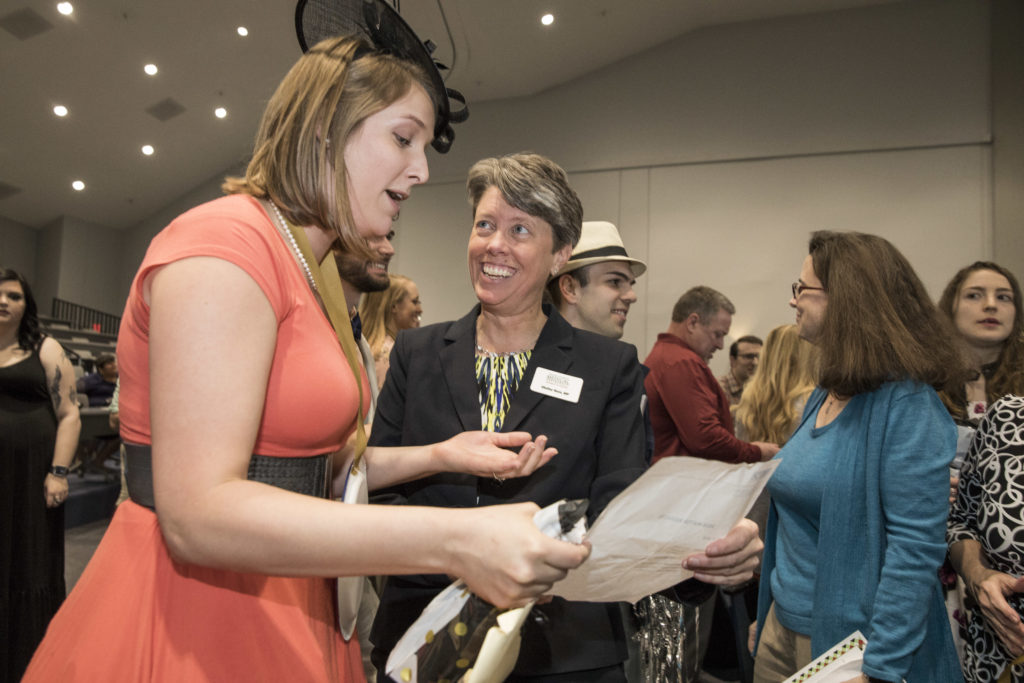
<path id="1" fill-rule="evenodd" d="M 18 681 L 65 598 L 63 506 L 43 481 L 57 421 L 39 349 L 0 368 L 0 681 Z"/>

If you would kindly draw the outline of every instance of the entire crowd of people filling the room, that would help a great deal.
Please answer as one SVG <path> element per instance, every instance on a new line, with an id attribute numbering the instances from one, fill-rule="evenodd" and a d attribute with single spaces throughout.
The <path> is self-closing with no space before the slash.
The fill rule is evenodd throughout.
<path id="1" fill-rule="evenodd" d="M 641 365 L 620 338 L 646 264 L 583 221 L 556 163 L 522 153 L 469 171 L 477 304 L 420 327 L 416 285 L 387 272 L 392 224 L 452 115 L 433 65 L 392 48 L 313 46 L 245 176 L 154 239 L 118 365 L 91 380 L 120 378 L 129 500 L 62 606 L 74 373 L 28 283 L 0 271 L 5 680 L 386 681 L 455 577 L 501 608 L 540 600 L 507 680 L 694 681 L 715 591 L 750 588 L 760 564 L 759 683 L 857 630 L 845 683 L 1024 681 L 1013 273 L 975 263 L 936 304 L 888 241 L 818 231 L 794 254 L 795 324 L 736 340 L 727 375 L 709 361 L 735 306 L 706 286 Z M 539 508 L 587 499 L 593 521 L 678 456 L 778 459 L 762 523 L 673 558 L 692 579 L 636 610 L 545 597 L 590 547 L 542 533 Z M 970 603 L 963 663 L 947 549 Z M 365 575 L 388 577 L 379 595 L 334 581 Z"/>

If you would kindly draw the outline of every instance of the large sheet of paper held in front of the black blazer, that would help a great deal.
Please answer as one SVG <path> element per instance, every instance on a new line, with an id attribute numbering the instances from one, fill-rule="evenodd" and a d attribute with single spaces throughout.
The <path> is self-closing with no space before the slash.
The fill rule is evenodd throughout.
<path id="1" fill-rule="evenodd" d="M 553 595 L 636 602 L 693 575 L 683 558 L 723 538 L 754 505 L 778 460 L 729 465 L 663 458 L 608 504 L 587 532 L 593 550 Z"/>

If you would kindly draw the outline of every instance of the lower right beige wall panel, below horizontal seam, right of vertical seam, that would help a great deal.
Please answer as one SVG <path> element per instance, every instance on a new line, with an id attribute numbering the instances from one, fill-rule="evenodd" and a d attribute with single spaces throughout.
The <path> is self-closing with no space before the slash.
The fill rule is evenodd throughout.
<path id="1" fill-rule="evenodd" d="M 938 297 L 957 268 L 987 253 L 988 168 L 985 147 L 963 146 L 652 171 L 647 348 L 679 294 L 698 284 L 736 305 L 732 339 L 792 323 L 790 284 L 816 229 L 886 237 Z"/>

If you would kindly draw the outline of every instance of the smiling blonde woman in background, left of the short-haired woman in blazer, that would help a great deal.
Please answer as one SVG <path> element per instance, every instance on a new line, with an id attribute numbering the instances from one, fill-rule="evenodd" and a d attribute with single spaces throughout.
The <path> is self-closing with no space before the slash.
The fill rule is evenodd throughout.
<path id="1" fill-rule="evenodd" d="M 383 292 L 371 292 L 362 297 L 359 304 L 362 336 L 374 352 L 378 388 L 384 386 L 384 378 L 387 377 L 394 338 L 402 330 L 420 327 L 423 315 L 416 283 L 404 275 L 388 278 L 391 280 L 390 287 Z"/>

